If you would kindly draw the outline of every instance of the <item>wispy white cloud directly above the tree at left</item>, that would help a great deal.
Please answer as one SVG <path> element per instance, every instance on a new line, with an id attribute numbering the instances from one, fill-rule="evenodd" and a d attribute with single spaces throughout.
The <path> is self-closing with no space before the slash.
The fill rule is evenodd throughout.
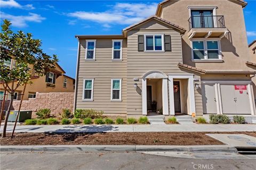
<path id="1" fill-rule="evenodd" d="M 10 20 L 14 27 L 27 27 L 27 22 L 42 22 L 45 20 L 44 17 L 35 13 L 28 13 L 28 15 L 11 15 L 1 12 L 1 17 Z"/>

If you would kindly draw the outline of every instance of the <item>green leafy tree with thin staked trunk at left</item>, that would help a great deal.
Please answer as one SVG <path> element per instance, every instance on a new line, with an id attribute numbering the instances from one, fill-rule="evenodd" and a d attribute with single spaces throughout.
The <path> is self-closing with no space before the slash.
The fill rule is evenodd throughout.
<path id="1" fill-rule="evenodd" d="M 6 137 L 7 120 L 15 90 L 20 86 L 24 87 L 25 84 L 31 84 L 30 79 L 32 77 L 45 75 L 46 72 L 54 69 L 54 63 L 58 62 L 56 55 L 51 57 L 43 53 L 41 40 L 33 39 L 31 33 L 22 31 L 14 33 L 10 26 L 11 22 L 4 20 L 0 33 L 0 81 L 4 89 L 11 95 L 2 137 Z M 6 66 L 4 64 L 6 61 L 11 61 L 11 65 Z"/>

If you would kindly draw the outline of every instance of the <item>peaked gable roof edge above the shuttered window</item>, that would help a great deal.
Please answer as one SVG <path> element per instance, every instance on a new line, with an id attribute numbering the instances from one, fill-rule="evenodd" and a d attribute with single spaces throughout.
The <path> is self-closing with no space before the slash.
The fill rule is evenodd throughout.
<path id="1" fill-rule="evenodd" d="M 172 23 L 172 22 L 170 22 L 170 21 L 167 21 L 167 20 L 165 20 L 165 19 L 162 19 L 162 18 L 160 18 L 159 16 L 156 16 L 156 15 L 149 16 L 149 17 L 146 18 L 145 20 L 142 20 L 142 21 L 140 21 L 140 22 L 138 22 L 138 23 L 132 24 L 132 25 L 130 25 L 129 27 L 124 28 L 122 31 L 123 31 L 123 32 L 129 31 L 129 30 L 131 30 L 131 29 L 133 29 L 133 28 L 136 28 L 136 27 L 138 27 L 139 25 L 141 25 L 141 24 L 143 24 L 143 23 L 145 23 L 145 22 L 148 22 L 148 21 L 150 21 L 150 20 L 157 20 L 157 21 L 163 22 L 164 24 L 170 25 L 171 27 L 173 27 L 174 29 L 179 30 L 179 31 L 182 32 L 182 33 L 183 33 L 183 32 L 186 32 L 186 29 L 185 29 L 185 28 L 180 27 L 179 25 L 174 24 L 174 23 Z"/>

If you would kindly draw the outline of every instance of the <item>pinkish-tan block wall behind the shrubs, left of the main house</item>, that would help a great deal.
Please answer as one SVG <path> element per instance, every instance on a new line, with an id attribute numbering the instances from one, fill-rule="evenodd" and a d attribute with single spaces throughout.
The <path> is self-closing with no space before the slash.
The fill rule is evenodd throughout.
<path id="1" fill-rule="evenodd" d="M 2 106 L 3 100 L 1 100 Z M 6 100 L 4 104 L 4 111 L 7 110 L 10 100 Z M 73 92 L 49 92 L 49 93 L 38 93 L 36 98 L 29 98 L 23 100 L 21 110 L 33 111 L 33 117 L 38 109 L 50 108 L 51 114 L 59 116 L 62 113 L 62 109 L 68 108 L 73 112 L 74 93 Z M 19 109 L 20 100 L 14 100 L 11 110 L 17 111 Z"/>

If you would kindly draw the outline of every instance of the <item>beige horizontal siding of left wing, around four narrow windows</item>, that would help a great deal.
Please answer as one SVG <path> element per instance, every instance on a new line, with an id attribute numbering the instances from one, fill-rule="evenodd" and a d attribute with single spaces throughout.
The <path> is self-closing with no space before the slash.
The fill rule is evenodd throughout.
<path id="1" fill-rule="evenodd" d="M 85 61 L 85 39 L 80 40 L 76 108 L 95 109 L 106 114 L 126 114 L 127 45 L 123 39 L 123 61 L 111 61 L 112 40 L 97 39 L 96 61 Z M 83 79 L 94 79 L 93 101 L 82 101 Z M 111 101 L 111 79 L 122 79 L 122 102 Z"/>

